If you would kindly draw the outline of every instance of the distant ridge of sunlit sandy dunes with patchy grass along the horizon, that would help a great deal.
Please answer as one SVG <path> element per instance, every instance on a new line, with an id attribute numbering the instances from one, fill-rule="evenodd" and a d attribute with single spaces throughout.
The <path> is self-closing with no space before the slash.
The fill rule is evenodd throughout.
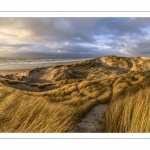
<path id="1" fill-rule="evenodd" d="M 101 79 L 150 70 L 150 59 L 105 56 L 68 65 L 26 70 L 8 76 L 26 82 L 47 83 L 64 79 Z"/>

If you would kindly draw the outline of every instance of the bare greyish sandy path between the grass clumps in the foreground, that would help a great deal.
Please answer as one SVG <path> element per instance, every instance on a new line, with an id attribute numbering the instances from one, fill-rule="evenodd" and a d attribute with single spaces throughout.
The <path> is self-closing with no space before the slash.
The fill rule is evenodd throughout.
<path id="1" fill-rule="evenodd" d="M 78 124 L 77 133 L 90 133 L 90 132 L 97 132 L 99 128 L 99 121 L 102 119 L 106 108 L 108 107 L 107 104 L 100 104 L 94 106 L 88 114 L 82 118 L 81 122 Z"/>

